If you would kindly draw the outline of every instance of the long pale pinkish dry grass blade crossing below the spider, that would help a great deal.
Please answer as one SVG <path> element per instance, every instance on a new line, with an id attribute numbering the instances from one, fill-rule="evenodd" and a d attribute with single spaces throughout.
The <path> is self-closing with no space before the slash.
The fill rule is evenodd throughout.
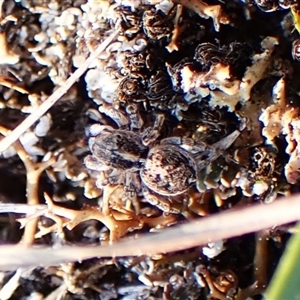
<path id="1" fill-rule="evenodd" d="M 107 246 L 62 246 L 60 248 L 2 246 L 0 247 L 0 269 L 53 265 L 92 257 L 138 256 L 173 252 L 299 219 L 299 195 L 295 195 L 270 204 L 234 209 L 188 224 L 167 228 L 157 234 L 124 239 Z"/>

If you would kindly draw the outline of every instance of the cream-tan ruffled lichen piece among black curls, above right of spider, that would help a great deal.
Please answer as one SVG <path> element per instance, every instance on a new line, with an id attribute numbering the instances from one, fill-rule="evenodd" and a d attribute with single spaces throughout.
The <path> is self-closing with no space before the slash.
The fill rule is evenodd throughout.
<path id="1" fill-rule="evenodd" d="M 221 62 L 212 64 L 208 72 L 195 72 L 190 65 L 184 66 L 180 70 L 180 77 L 185 100 L 191 102 L 193 98 L 210 96 L 210 106 L 225 106 L 229 111 L 234 111 L 237 103 L 243 104 L 250 99 L 254 85 L 268 75 L 267 70 L 277 44 L 276 38 L 266 37 L 261 42 L 263 52 L 253 55 L 252 64 L 241 80 L 234 78 L 230 66 Z"/>

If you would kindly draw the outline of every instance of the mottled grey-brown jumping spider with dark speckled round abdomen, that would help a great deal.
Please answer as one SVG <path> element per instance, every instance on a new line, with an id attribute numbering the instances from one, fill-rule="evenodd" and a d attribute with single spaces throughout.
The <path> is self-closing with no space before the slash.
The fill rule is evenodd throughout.
<path id="1" fill-rule="evenodd" d="M 125 129 L 120 126 L 119 120 L 125 117 L 120 110 L 107 106 L 102 112 L 116 120 L 121 128 L 98 124 L 90 128 L 92 155 L 85 158 L 85 165 L 106 172 L 105 178 L 98 177 L 99 188 L 124 184 L 124 195 L 135 208 L 138 207 L 137 196 L 142 194 L 161 210 L 179 213 L 180 209 L 172 205 L 170 197 L 183 194 L 194 184 L 197 186 L 199 171 L 218 158 L 240 134 L 236 130 L 212 146 L 182 137 L 157 142 L 164 122 L 162 114 L 157 115 L 152 128 L 142 131 L 143 122 L 135 105 L 127 106 Z"/>

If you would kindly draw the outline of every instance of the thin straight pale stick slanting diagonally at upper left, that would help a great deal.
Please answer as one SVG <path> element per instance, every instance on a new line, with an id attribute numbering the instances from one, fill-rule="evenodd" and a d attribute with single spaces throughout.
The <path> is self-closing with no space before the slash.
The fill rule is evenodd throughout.
<path id="1" fill-rule="evenodd" d="M 13 142 L 32 126 L 40 117 L 42 117 L 83 75 L 89 65 L 106 49 L 106 47 L 115 39 L 118 31 L 114 31 L 106 38 L 93 52 L 90 57 L 66 80 L 65 84 L 58 88 L 46 101 L 44 101 L 32 114 L 30 114 L 21 124 L 19 124 L 7 137 L 0 141 L 0 152 L 6 150 Z"/>

